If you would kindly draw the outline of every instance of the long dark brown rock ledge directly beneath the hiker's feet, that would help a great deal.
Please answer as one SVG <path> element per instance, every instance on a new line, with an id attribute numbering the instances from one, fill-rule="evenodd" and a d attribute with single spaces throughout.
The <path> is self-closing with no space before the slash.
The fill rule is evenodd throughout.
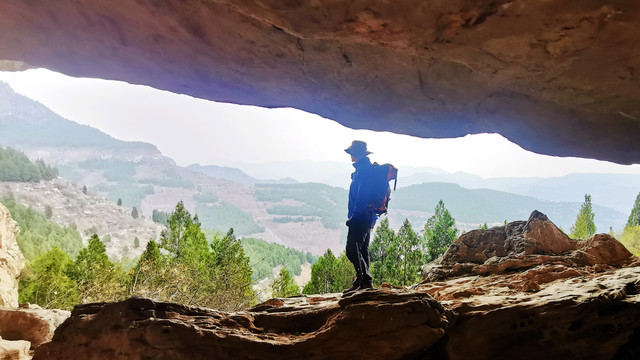
<path id="1" fill-rule="evenodd" d="M 430 295 L 395 289 L 235 314 L 132 298 L 77 306 L 34 359 L 400 359 L 432 346 L 447 326 Z"/>

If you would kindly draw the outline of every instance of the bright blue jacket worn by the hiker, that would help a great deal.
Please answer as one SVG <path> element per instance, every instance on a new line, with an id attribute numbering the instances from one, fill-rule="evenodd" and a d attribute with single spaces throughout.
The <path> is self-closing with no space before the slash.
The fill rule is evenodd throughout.
<path id="1" fill-rule="evenodd" d="M 373 192 L 373 165 L 368 157 L 363 157 L 353 164 L 356 171 L 351 174 L 351 186 L 349 187 L 349 212 L 348 218 L 352 221 L 368 222 L 371 226 L 376 223 L 378 217 L 370 204 Z"/>

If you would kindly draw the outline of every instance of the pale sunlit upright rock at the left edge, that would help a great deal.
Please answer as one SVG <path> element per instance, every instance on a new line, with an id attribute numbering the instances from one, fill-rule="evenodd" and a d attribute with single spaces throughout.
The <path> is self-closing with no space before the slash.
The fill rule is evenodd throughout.
<path id="1" fill-rule="evenodd" d="M 0 306 L 18 306 L 18 276 L 25 259 L 16 243 L 16 222 L 9 210 L 0 204 Z"/>

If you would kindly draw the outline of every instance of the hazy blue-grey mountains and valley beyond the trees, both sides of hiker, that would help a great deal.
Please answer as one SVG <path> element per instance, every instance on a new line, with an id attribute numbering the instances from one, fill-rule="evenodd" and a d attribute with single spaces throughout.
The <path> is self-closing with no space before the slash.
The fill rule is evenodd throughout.
<path id="1" fill-rule="evenodd" d="M 0 145 L 42 158 L 57 166 L 62 177 L 114 202 L 122 199 L 125 206 L 136 206 L 147 217 L 156 209 L 172 211 L 183 201 L 189 211 L 201 212 L 203 226 L 221 231 L 234 227 L 238 235 L 314 254 L 327 247 L 341 251 L 346 216 L 341 199 L 346 199 L 353 171 L 349 161 L 179 167 L 152 144 L 120 141 L 63 119 L 2 83 Z M 584 194 L 590 193 L 598 231 L 607 232 L 610 226 L 621 229 L 638 191 L 640 175 L 483 179 L 434 168 L 401 167 L 389 216 L 396 228 L 409 218 L 419 230 L 442 199 L 459 227 L 466 229 L 526 219 L 532 210 L 539 210 L 568 231 Z"/>

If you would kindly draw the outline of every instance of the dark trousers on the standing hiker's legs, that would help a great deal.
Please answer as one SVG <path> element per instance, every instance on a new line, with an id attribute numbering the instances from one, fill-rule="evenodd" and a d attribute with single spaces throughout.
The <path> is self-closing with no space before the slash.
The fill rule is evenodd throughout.
<path id="1" fill-rule="evenodd" d="M 369 237 L 371 226 L 367 223 L 354 222 L 349 225 L 347 233 L 347 259 L 356 269 L 356 282 L 359 285 L 371 285 L 369 274 Z M 354 282 L 354 284 L 356 283 Z"/>

